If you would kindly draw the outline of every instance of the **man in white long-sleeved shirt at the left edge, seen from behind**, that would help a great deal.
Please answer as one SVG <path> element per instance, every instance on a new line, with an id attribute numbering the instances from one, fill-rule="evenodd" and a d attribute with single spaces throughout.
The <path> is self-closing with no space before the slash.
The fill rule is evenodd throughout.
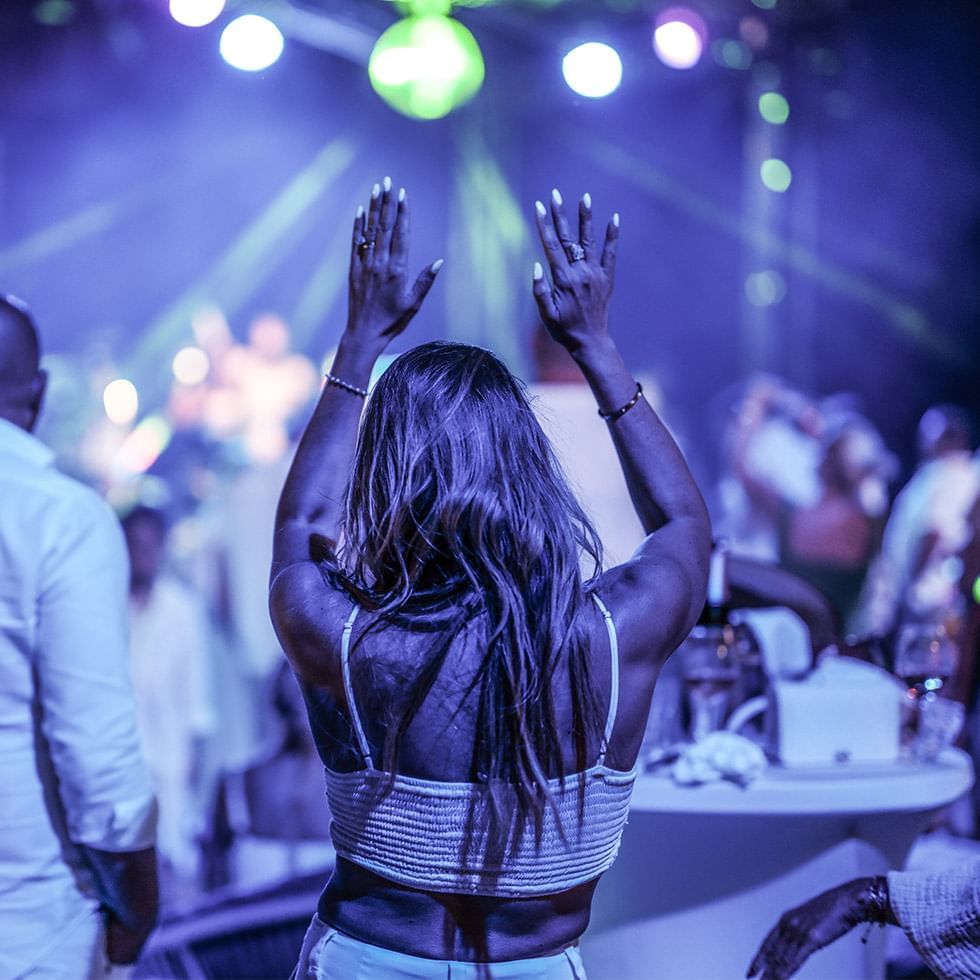
<path id="1" fill-rule="evenodd" d="M 122 533 L 31 435 L 45 380 L 29 313 L 0 294 L 0 976 L 63 980 L 139 955 L 156 805 Z"/>

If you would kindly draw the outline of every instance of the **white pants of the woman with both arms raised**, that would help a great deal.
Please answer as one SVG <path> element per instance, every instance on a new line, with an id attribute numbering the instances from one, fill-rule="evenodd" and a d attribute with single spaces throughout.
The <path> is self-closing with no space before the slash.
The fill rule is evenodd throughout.
<path id="1" fill-rule="evenodd" d="M 371 946 L 337 932 L 316 915 L 291 980 L 586 980 L 576 947 L 504 963 L 430 960 Z"/>

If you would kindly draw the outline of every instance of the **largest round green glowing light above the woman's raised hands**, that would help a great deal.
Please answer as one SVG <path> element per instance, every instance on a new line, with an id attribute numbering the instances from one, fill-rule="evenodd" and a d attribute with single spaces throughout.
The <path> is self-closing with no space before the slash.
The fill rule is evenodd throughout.
<path id="1" fill-rule="evenodd" d="M 375 92 L 414 119 L 440 119 L 483 84 L 483 55 L 451 17 L 406 17 L 378 38 L 368 74 Z"/>

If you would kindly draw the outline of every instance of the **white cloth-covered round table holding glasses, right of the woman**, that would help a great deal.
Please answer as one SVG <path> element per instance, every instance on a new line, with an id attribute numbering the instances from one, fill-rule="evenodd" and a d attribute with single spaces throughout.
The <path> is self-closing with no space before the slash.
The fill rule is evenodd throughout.
<path id="1" fill-rule="evenodd" d="M 774 768 L 746 789 L 637 780 L 619 858 L 582 940 L 590 980 L 744 977 L 788 908 L 859 875 L 901 868 L 915 838 L 973 783 L 969 757 L 931 765 Z M 800 977 L 883 975 L 883 930 L 856 929 Z"/>

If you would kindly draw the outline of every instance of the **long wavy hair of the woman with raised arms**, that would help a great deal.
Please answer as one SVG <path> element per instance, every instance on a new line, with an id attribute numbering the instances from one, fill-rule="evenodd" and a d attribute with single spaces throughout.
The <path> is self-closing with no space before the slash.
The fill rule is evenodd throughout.
<path id="1" fill-rule="evenodd" d="M 580 558 L 598 573 L 601 545 L 523 384 L 495 355 L 434 342 L 388 368 L 361 423 L 341 537 L 331 577 L 374 621 L 428 621 L 441 637 L 391 720 L 382 767 L 397 769 L 453 640 L 481 629 L 472 772 L 491 790 L 489 836 L 513 836 L 515 808 L 497 805 L 508 793 L 520 827 L 530 817 L 540 834 L 548 775 L 565 773 L 553 692 L 563 663 L 576 770 L 596 745 Z"/>

